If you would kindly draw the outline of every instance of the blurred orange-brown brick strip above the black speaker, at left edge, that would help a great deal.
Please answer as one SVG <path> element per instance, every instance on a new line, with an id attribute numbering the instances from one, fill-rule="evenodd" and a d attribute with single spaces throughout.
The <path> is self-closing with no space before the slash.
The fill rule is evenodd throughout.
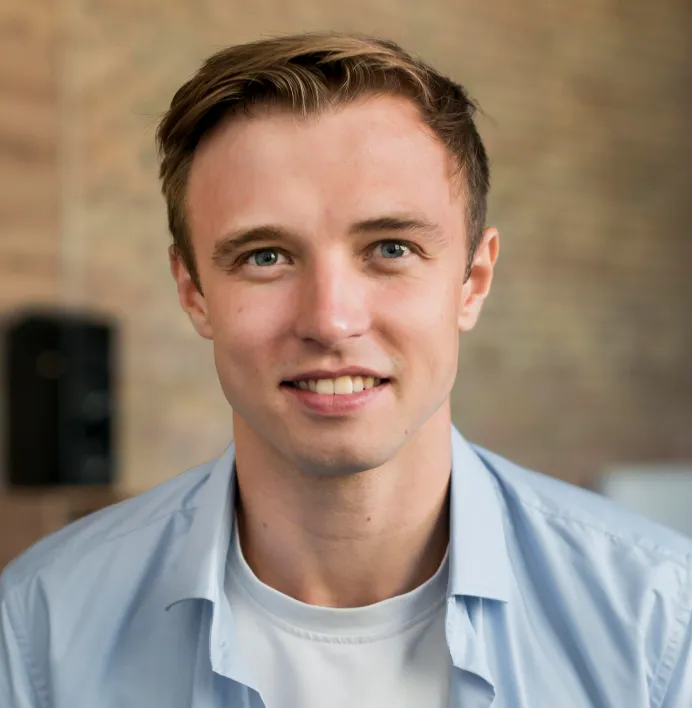
<path id="1" fill-rule="evenodd" d="M 60 291 L 59 38 L 52 0 L 0 7 L 0 311 Z"/>

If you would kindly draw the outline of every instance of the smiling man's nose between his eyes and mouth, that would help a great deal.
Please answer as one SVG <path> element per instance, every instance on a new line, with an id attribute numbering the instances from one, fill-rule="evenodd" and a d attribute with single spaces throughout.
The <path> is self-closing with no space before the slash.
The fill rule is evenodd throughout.
<path id="1" fill-rule="evenodd" d="M 325 348 L 363 335 L 371 320 L 364 277 L 339 259 L 303 272 L 296 334 Z"/>

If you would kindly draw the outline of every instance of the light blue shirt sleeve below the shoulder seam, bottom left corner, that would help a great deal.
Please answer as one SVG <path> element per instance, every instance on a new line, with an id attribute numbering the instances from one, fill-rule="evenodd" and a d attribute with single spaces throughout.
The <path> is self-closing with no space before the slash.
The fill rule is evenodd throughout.
<path id="1" fill-rule="evenodd" d="M 44 708 L 31 676 L 29 646 L 18 624 L 0 578 L 0 706 Z"/>

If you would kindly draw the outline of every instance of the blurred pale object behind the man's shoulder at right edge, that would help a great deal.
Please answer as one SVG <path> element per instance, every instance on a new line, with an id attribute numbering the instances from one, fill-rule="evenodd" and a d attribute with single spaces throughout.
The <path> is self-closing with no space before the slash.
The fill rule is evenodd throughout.
<path id="1" fill-rule="evenodd" d="M 692 462 L 617 465 L 596 489 L 631 511 L 692 537 Z"/>

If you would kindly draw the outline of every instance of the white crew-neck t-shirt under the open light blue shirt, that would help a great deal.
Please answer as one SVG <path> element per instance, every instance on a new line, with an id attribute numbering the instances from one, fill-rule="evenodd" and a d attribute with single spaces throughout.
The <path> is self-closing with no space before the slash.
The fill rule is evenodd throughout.
<path id="1" fill-rule="evenodd" d="M 415 590 L 367 607 L 316 607 L 262 583 L 234 530 L 227 593 L 238 646 L 266 708 L 442 708 L 445 555 Z"/>

